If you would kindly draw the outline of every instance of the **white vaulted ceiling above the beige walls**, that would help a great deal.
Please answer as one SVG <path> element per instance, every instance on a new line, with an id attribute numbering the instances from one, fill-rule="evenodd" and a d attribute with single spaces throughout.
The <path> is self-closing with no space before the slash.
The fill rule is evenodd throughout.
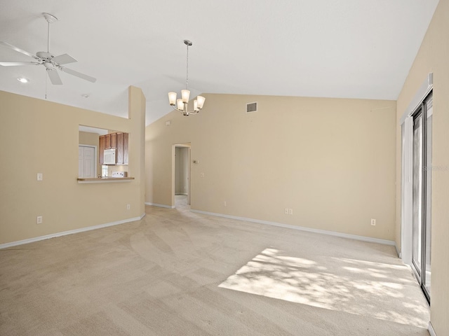
<path id="1" fill-rule="evenodd" d="M 127 116 L 129 85 L 147 98 L 147 125 L 170 112 L 168 91 L 396 99 L 438 0 L 0 0 L 0 41 L 68 53 L 46 89 L 43 66 L 0 66 L 0 90 Z M 0 61 L 30 61 L 0 45 Z M 25 76 L 24 85 L 16 78 Z M 83 98 L 82 94 L 90 97 Z M 207 100 L 206 100 L 207 104 Z"/>

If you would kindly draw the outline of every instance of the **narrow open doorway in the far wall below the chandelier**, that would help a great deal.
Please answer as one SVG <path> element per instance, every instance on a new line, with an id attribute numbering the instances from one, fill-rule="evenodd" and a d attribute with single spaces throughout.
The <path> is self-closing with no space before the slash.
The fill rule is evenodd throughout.
<path id="1" fill-rule="evenodd" d="M 172 204 L 175 208 L 190 207 L 190 143 L 173 145 Z"/>

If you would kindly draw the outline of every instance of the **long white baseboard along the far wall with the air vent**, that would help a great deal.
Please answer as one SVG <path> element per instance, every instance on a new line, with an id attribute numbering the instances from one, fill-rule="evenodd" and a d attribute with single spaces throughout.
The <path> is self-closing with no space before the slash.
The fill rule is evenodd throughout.
<path id="1" fill-rule="evenodd" d="M 281 228 L 288 228 L 288 229 L 301 230 L 301 231 L 307 231 L 307 232 L 321 233 L 322 235 L 330 235 L 330 236 L 335 236 L 335 237 L 342 237 L 342 238 L 356 239 L 356 240 L 361 240 L 361 241 L 368 241 L 370 243 L 377 243 L 377 244 L 396 246 L 396 243 L 394 241 L 387 240 L 387 239 L 364 237 L 364 236 L 358 236 L 358 235 L 349 235 L 347 233 L 340 233 L 340 232 L 335 232 L 335 231 L 312 229 L 312 228 L 306 228 L 304 226 L 296 226 L 296 225 L 275 223 L 275 222 L 269 222 L 269 221 L 260 221 L 259 219 L 237 217 L 237 216 L 230 216 L 230 215 L 224 215 L 224 214 L 216 214 L 214 212 L 207 212 L 207 211 L 200 211 L 200 210 L 190 210 L 190 211 L 196 212 L 197 214 L 205 214 L 205 215 L 210 215 L 210 216 L 217 216 L 217 217 L 225 217 L 225 218 L 230 218 L 230 219 L 236 219 L 238 221 L 247 221 L 247 222 L 253 222 L 253 223 L 274 225 L 274 226 L 279 226 Z"/>

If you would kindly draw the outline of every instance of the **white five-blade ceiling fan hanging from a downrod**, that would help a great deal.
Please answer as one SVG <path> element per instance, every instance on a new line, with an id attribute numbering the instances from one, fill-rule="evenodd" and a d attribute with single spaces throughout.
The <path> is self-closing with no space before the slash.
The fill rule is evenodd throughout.
<path id="1" fill-rule="evenodd" d="M 24 55 L 27 55 L 29 57 L 33 57 L 34 61 L 32 62 L 0 62 L 0 65 L 2 66 L 18 66 L 18 65 L 43 65 L 46 67 L 48 78 L 50 78 L 50 81 L 53 85 L 62 85 L 62 80 L 58 74 L 58 71 L 56 69 L 59 69 L 60 71 L 69 73 L 70 75 L 88 80 L 92 83 L 95 83 L 96 78 L 93 78 L 91 76 L 87 76 L 84 73 L 80 73 L 78 71 L 74 71 L 72 69 L 66 68 L 62 64 L 68 64 L 73 62 L 78 62 L 76 59 L 74 59 L 72 56 L 68 54 L 62 54 L 59 56 L 55 56 L 51 54 L 49 51 L 50 48 L 50 24 L 52 22 L 58 21 L 58 18 L 55 16 L 48 14 L 48 13 L 42 13 L 43 18 L 48 22 L 48 31 L 47 31 L 47 51 L 38 51 L 36 52 L 36 55 L 33 55 L 31 52 L 27 52 L 25 50 L 22 50 L 15 45 L 0 41 L 0 45 L 4 45 L 5 47 L 11 48 L 12 50 L 15 50 L 17 52 L 21 52 Z"/>

